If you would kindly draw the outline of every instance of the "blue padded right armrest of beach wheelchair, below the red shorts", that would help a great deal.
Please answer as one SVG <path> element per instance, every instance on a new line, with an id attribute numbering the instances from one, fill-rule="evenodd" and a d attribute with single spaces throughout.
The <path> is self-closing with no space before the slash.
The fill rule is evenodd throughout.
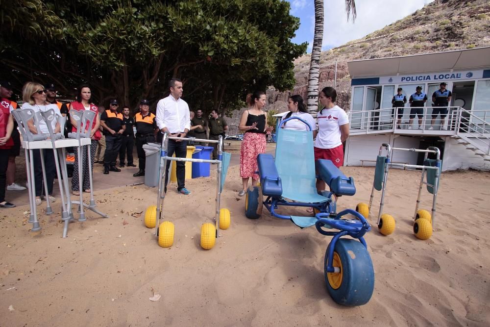
<path id="1" fill-rule="evenodd" d="M 318 159 L 315 168 L 320 178 L 327 183 L 335 195 L 354 195 L 356 186 L 352 177 L 346 177 L 331 160 Z"/>

